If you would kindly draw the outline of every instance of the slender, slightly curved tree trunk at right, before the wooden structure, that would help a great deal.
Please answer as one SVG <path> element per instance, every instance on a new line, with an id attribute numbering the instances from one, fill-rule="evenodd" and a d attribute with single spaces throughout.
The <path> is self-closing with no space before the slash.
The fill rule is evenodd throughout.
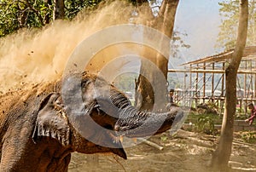
<path id="1" fill-rule="evenodd" d="M 232 54 L 229 66 L 225 69 L 226 95 L 221 135 L 217 149 L 212 154 L 213 168 L 222 171 L 226 171 L 228 168 L 233 141 L 233 125 L 236 114 L 236 75 L 247 40 L 248 1 L 240 0 L 239 9 L 236 48 Z"/>

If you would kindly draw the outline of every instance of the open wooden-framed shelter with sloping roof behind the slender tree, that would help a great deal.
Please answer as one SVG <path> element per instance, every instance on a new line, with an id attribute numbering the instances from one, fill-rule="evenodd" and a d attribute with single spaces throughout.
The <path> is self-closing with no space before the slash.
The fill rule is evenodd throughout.
<path id="1" fill-rule="evenodd" d="M 183 69 L 169 69 L 168 72 L 182 72 L 183 94 L 177 101 L 188 106 L 197 106 L 210 100 L 218 106 L 224 105 L 225 77 L 224 70 L 228 65 L 234 49 L 220 54 L 207 56 L 199 60 L 182 64 Z M 246 110 L 248 101 L 256 102 L 256 46 L 246 47 L 237 74 L 237 107 Z"/>

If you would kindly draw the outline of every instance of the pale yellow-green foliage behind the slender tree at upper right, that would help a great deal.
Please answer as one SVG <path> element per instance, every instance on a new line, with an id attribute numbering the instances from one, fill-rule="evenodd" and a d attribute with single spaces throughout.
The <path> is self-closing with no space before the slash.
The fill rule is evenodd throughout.
<path id="1" fill-rule="evenodd" d="M 217 48 L 233 49 L 236 43 L 236 32 L 239 18 L 239 1 L 224 0 L 220 5 L 219 14 L 223 17 L 218 33 Z M 256 41 L 256 3 L 249 1 L 249 19 L 247 32 L 247 46 Z"/>

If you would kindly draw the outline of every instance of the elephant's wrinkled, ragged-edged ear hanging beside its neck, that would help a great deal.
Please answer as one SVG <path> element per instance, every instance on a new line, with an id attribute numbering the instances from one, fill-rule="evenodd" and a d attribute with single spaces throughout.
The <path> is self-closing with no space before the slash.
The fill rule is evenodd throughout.
<path id="1" fill-rule="evenodd" d="M 69 123 L 64 109 L 58 103 L 60 99 L 60 94 L 51 93 L 41 101 L 32 135 L 32 140 L 35 143 L 42 137 L 55 138 L 63 146 L 67 146 L 70 143 Z"/>

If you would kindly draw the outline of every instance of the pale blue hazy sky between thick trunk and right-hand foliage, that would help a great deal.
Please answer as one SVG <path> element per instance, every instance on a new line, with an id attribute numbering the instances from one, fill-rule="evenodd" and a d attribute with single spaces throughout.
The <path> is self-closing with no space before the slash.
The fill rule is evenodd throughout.
<path id="1" fill-rule="evenodd" d="M 179 1 L 174 29 L 188 34 L 184 41 L 191 47 L 181 52 L 185 60 L 196 60 L 221 51 L 214 49 L 221 24 L 219 2 L 222 1 Z"/>

